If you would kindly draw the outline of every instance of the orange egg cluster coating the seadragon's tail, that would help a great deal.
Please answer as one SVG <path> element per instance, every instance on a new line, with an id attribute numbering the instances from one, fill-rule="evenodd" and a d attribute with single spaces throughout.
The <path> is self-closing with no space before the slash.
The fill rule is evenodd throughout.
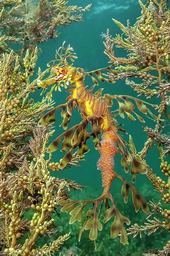
<path id="1" fill-rule="evenodd" d="M 103 187 L 108 186 L 114 178 L 114 157 L 115 154 L 118 153 L 116 142 L 117 138 L 115 133 L 112 130 L 109 130 L 103 134 L 101 146 L 98 148 L 101 157 L 98 160 L 97 167 L 98 170 L 101 170 Z"/>

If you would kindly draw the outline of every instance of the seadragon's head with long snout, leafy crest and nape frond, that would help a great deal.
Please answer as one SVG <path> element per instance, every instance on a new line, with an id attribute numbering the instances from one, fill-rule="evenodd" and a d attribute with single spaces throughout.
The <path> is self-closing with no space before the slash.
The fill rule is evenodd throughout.
<path id="1" fill-rule="evenodd" d="M 101 71 L 108 70 L 110 73 L 117 75 L 117 72 L 113 70 L 112 67 L 117 66 L 118 61 L 115 61 L 113 64 L 111 64 L 108 67 L 104 67 L 98 70 L 93 70 L 91 72 L 85 72 L 82 68 L 76 68 L 72 66 L 74 59 L 77 57 L 75 56 L 75 52 L 73 52 L 72 47 L 68 46 L 65 48 L 64 44 L 65 42 L 63 42 L 62 47 L 60 47 L 56 51 L 56 56 L 55 56 L 56 59 L 53 61 L 50 61 L 47 64 L 47 66 L 50 67 L 50 64 L 53 63 L 52 67 L 46 70 L 46 73 L 49 72 L 50 70 L 50 76 L 45 80 L 41 80 L 42 73 L 40 73 L 40 76 L 37 79 L 37 86 L 39 88 L 43 88 L 43 91 L 46 90 L 49 85 L 52 85 L 50 92 L 46 94 L 47 99 L 49 100 L 52 99 L 52 91 L 54 89 L 59 91 L 61 91 L 61 87 L 64 87 L 66 89 L 69 83 L 74 83 L 75 81 L 78 81 L 78 80 L 83 81 L 85 76 L 90 76 L 92 81 L 96 85 L 98 85 L 97 79 L 101 82 L 104 82 L 104 81 L 107 81 L 109 83 L 115 82 L 112 79 L 107 79 L 104 76 L 104 74 L 101 73 Z M 71 61 L 71 64 L 69 64 L 70 61 Z"/>

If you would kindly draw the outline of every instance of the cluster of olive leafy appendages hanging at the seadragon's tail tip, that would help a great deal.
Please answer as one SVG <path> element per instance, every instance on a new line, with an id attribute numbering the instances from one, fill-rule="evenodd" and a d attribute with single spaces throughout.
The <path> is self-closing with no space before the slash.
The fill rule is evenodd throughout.
<path id="1" fill-rule="evenodd" d="M 114 239 L 117 236 L 119 236 L 119 233 L 120 233 L 121 243 L 128 244 L 127 232 L 124 228 L 124 223 L 129 225 L 130 220 L 127 217 L 124 217 L 123 215 L 121 215 L 121 213 L 118 211 L 118 209 L 115 205 L 114 200 L 112 199 L 112 196 L 110 195 L 109 197 L 112 202 L 112 207 L 109 207 L 108 199 L 106 199 L 106 202 L 105 202 L 106 211 L 104 212 L 103 222 L 106 223 L 113 216 L 115 216 L 114 221 L 111 226 L 110 236 L 112 239 Z M 98 199 L 98 200 L 100 201 L 100 199 Z M 79 203 L 81 203 L 81 205 L 77 206 L 77 204 L 79 204 Z M 61 208 L 61 212 L 70 212 L 69 214 L 71 215 L 71 218 L 70 218 L 69 224 L 73 224 L 75 221 L 81 221 L 83 209 L 86 206 L 86 204 L 88 204 L 88 203 L 92 203 L 92 202 L 90 202 L 90 201 L 89 202 L 88 201 L 69 201 L 69 200 L 68 201 L 66 201 L 66 200 L 58 201 L 58 205 L 63 206 Z M 84 224 L 80 230 L 79 241 L 81 239 L 81 234 L 84 230 L 90 230 L 89 239 L 91 239 L 91 240 L 96 240 L 97 235 L 98 235 L 98 230 L 99 231 L 102 230 L 102 224 L 99 221 L 99 216 L 101 213 L 101 208 L 102 208 L 102 206 L 104 206 L 104 204 L 103 204 L 103 202 L 101 203 L 99 210 L 98 210 L 98 203 L 95 204 L 95 202 L 94 202 L 93 205 L 95 208 L 89 209 L 86 212 L 86 220 L 84 221 Z M 91 218 L 89 218 L 90 216 L 91 216 Z"/>

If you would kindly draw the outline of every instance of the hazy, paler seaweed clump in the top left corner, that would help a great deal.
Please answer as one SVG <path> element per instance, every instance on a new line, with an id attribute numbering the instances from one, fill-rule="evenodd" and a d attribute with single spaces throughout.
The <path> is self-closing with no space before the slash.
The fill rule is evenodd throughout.
<path id="1" fill-rule="evenodd" d="M 34 52 L 43 41 L 57 38 L 58 26 L 66 26 L 83 18 L 90 9 L 67 5 L 66 0 L 0 0 L 0 56 L 14 51 L 18 58 L 27 49 Z"/>

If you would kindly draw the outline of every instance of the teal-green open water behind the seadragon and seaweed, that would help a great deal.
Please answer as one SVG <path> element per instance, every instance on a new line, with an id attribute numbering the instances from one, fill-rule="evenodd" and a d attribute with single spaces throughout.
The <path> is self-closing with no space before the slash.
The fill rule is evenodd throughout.
<path id="1" fill-rule="evenodd" d="M 48 42 L 44 42 L 41 44 L 41 54 L 39 55 L 37 67 L 40 67 L 41 70 L 46 69 L 46 64 L 55 59 L 55 50 L 58 49 L 63 43 L 63 41 L 66 41 L 66 44 L 70 44 L 71 47 L 74 48 L 76 55 L 78 56 L 78 59 L 75 60 L 74 66 L 75 67 L 81 67 L 85 71 L 91 71 L 98 68 L 106 67 L 108 64 L 108 57 L 104 54 L 104 44 L 103 44 L 103 38 L 101 37 L 102 33 L 106 33 L 107 29 L 109 28 L 110 34 L 112 36 L 115 36 L 115 34 L 120 33 L 121 31 L 118 28 L 115 23 L 113 23 L 112 18 L 115 18 L 116 20 L 121 21 L 124 25 L 127 24 L 127 20 L 130 20 L 130 25 L 133 25 L 136 21 L 136 18 L 140 16 L 141 8 L 138 4 L 137 0 L 70 0 L 70 4 L 72 5 L 78 5 L 78 6 L 86 6 L 89 3 L 92 3 L 92 8 L 89 12 L 86 12 L 84 14 L 84 22 L 79 23 L 72 23 L 69 26 L 58 27 L 58 31 L 61 32 L 58 38 L 49 40 Z M 115 48 L 115 56 L 118 57 L 126 57 L 127 52 L 120 48 Z M 140 80 L 135 80 L 140 81 Z M 87 79 L 86 85 L 92 86 L 92 80 Z M 109 84 L 107 82 L 100 82 L 99 87 L 96 86 L 95 90 L 98 90 L 99 88 L 104 88 L 104 93 L 109 94 L 123 94 L 123 95 L 130 95 L 137 97 L 137 94 L 125 84 L 125 81 L 116 81 L 115 84 Z M 64 103 L 66 100 L 66 97 L 68 96 L 68 93 L 65 92 L 65 89 L 62 88 L 61 92 L 54 92 L 53 93 L 53 100 L 55 101 L 55 105 L 59 105 L 61 103 Z M 40 96 L 39 91 L 35 94 L 35 101 L 41 100 L 42 96 Z M 141 99 L 144 99 L 141 97 Z M 145 99 L 144 99 L 145 100 Z M 150 103 L 158 103 L 158 100 L 151 99 L 149 100 Z M 113 110 L 117 109 L 117 105 L 113 106 Z M 52 140 L 55 139 L 61 132 L 63 132 L 62 128 L 59 127 L 59 124 L 61 123 L 61 115 L 60 111 L 56 114 L 56 122 L 54 124 L 55 126 L 55 134 L 53 135 Z M 154 127 L 155 122 L 146 116 L 143 116 L 146 123 L 141 123 L 138 120 L 136 121 L 128 121 L 127 118 L 121 119 L 118 117 L 118 122 L 121 122 L 124 124 L 125 130 L 128 132 L 128 134 L 131 134 L 133 137 L 133 141 L 135 143 L 137 151 L 140 151 L 143 146 L 144 142 L 147 140 L 147 135 L 144 133 L 142 129 L 142 125 L 148 126 L 148 127 Z M 71 127 L 72 125 L 78 123 L 81 121 L 81 116 L 78 113 L 77 109 L 74 110 L 74 113 L 72 115 L 71 124 L 69 124 L 68 127 Z M 123 135 L 124 140 L 129 140 L 129 135 L 124 134 Z M 81 167 L 72 167 L 71 169 L 66 169 L 61 172 L 52 173 L 53 175 L 59 177 L 59 178 L 66 178 L 67 180 L 72 179 L 76 182 L 87 186 L 87 189 L 84 189 L 82 192 L 73 192 L 71 194 L 72 198 L 76 199 L 92 199 L 96 196 L 99 196 L 102 192 L 102 186 L 101 186 L 101 173 L 96 168 L 96 163 L 99 158 L 99 153 L 94 149 L 94 145 L 92 143 L 92 140 L 88 143 L 90 151 L 85 156 L 85 161 L 81 161 Z M 59 150 L 54 152 L 52 154 L 52 160 L 54 162 L 58 162 L 61 157 L 64 156 L 63 152 L 60 152 Z M 149 151 L 148 156 L 146 157 L 147 163 L 150 165 L 150 167 L 153 169 L 154 172 L 156 172 L 159 176 L 161 176 L 160 173 L 160 160 L 159 155 L 156 149 L 156 146 L 153 147 L 152 150 Z M 130 174 L 125 174 L 124 169 L 120 164 L 121 156 L 117 155 L 115 157 L 115 171 L 121 174 L 123 177 L 125 177 L 126 180 L 130 181 L 131 177 Z M 139 175 L 136 179 L 135 186 L 137 189 L 141 192 L 144 197 L 148 199 L 152 199 L 152 195 L 154 198 L 157 198 L 159 200 L 159 196 L 157 192 L 153 192 L 153 186 L 150 185 L 150 182 L 148 181 L 147 177 L 145 175 Z M 147 186 L 147 187 L 146 187 Z M 147 188 L 147 189 L 146 189 Z M 118 180 L 115 180 L 112 184 L 112 195 L 114 198 L 116 198 L 116 203 L 119 206 L 119 210 L 123 213 L 125 216 L 130 218 L 131 223 L 134 224 L 135 221 L 139 222 L 140 224 L 144 221 L 144 213 L 135 213 L 135 209 L 132 207 L 132 204 L 124 204 L 123 198 L 121 196 L 121 182 Z M 152 194 L 153 193 L 153 194 Z M 90 197 L 90 198 L 89 198 Z M 138 217 L 139 216 L 139 217 Z M 62 222 L 63 221 L 63 222 Z M 67 221 L 69 221 L 69 216 L 67 213 L 63 213 L 59 219 L 59 223 L 56 222 L 59 227 L 62 227 L 63 234 L 66 232 L 69 232 L 69 225 L 67 225 Z M 76 224 L 75 224 L 76 225 Z M 64 228 L 66 227 L 66 228 Z M 70 227 L 72 228 L 72 227 Z M 109 230 L 109 229 L 108 229 Z M 107 230 L 107 233 L 108 233 Z M 82 254 L 80 253 L 80 250 L 78 250 L 75 255 L 141 255 L 141 251 L 145 249 L 149 249 L 150 245 L 154 244 L 154 238 L 152 240 L 147 240 L 145 235 L 145 242 L 142 243 L 138 241 L 138 247 L 141 246 L 141 250 L 137 250 L 135 245 L 133 245 L 133 239 L 130 239 L 131 245 L 129 247 L 123 246 L 120 244 L 118 239 L 112 240 L 109 238 L 109 234 L 106 233 L 105 230 L 102 230 L 102 235 L 99 237 L 99 243 L 104 244 L 104 248 L 102 251 L 95 251 L 94 245 L 92 244 L 92 241 L 89 241 L 87 239 L 88 235 L 86 235 L 86 240 L 84 236 L 82 237 L 82 241 L 80 243 L 77 242 L 78 240 L 78 229 L 75 228 L 75 231 L 72 231 L 71 235 L 74 237 L 71 242 L 69 242 L 69 246 L 72 247 L 79 247 L 82 248 Z M 86 233 L 88 233 L 86 231 Z M 100 240 L 102 239 L 102 240 Z M 162 236 L 159 237 L 160 241 L 162 240 Z M 84 247 L 84 241 L 86 241 L 86 246 Z M 156 240 L 155 240 L 156 241 Z M 158 240 L 157 240 L 158 241 Z M 72 243 L 72 244 L 71 244 Z M 117 247 L 115 247 L 117 246 Z M 66 244 L 67 247 L 67 244 Z M 120 247 L 120 248 L 119 248 Z M 159 244 L 156 242 L 155 248 L 159 247 Z M 85 249 L 86 248 L 86 249 Z M 89 249 L 92 248 L 92 249 Z M 119 248 L 118 252 L 116 253 L 115 248 Z M 126 250 L 125 250 L 126 248 Z M 129 248 L 129 249 L 128 249 Z M 137 250 L 137 253 L 136 253 Z M 140 251 L 140 253 L 139 253 Z M 57 255 L 57 254 L 56 254 Z"/>

